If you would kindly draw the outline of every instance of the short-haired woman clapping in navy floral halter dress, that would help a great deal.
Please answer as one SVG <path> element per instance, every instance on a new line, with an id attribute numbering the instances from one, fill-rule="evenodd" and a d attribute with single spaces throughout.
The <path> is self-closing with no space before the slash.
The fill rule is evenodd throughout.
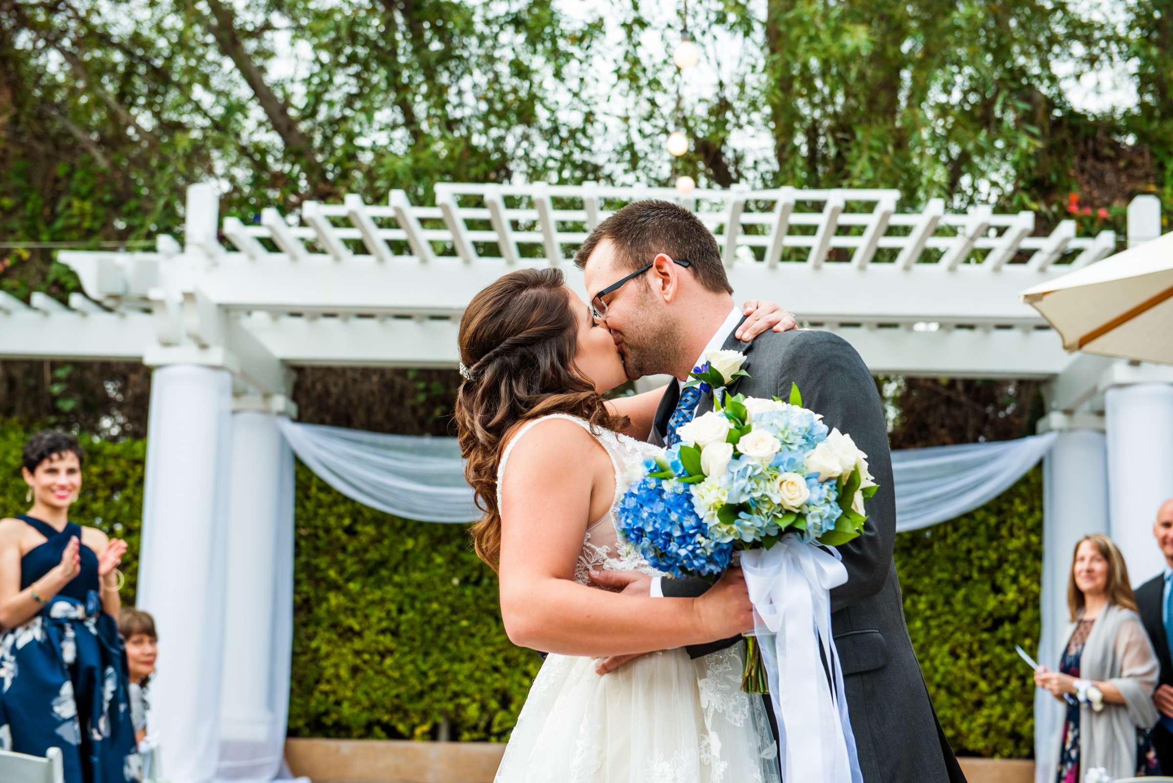
<path id="1" fill-rule="evenodd" d="M 0 748 L 60 748 L 66 783 L 141 777 L 115 617 L 124 541 L 69 521 L 81 490 L 77 439 L 25 444 L 27 514 L 0 520 Z"/>

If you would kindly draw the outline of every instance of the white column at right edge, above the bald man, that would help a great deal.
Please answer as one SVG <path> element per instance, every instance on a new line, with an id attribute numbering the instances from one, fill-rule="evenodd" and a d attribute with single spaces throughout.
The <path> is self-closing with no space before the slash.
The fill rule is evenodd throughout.
<path id="1" fill-rule="evenodd" d="M 1133 586 L 1164 563 L 1153 520 L 1173 498 L 1173 384 L 1112 386 L 1105 394 L 1111 535 Z"/>

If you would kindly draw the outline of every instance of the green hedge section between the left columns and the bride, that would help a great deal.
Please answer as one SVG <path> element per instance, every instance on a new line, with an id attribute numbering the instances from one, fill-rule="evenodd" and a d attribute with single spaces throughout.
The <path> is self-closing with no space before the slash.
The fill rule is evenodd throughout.
<path id="1" fill-rule="evenodd" d="M 507 735 L 541 664 L 509 643 L 463 525 L 388 517 L 297 473 L 290 734 Z"/>

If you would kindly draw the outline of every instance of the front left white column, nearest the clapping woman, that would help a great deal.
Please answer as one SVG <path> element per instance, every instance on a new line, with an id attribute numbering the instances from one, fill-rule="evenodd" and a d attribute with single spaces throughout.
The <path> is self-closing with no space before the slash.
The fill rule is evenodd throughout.
<path id="1" fill-rule="evenodd" d="M 231 410 L 225 370 L 171 365 L 151 377 L 138 607 L 158 629 L 150 730 L 171 783 L 216 771 Z"/>

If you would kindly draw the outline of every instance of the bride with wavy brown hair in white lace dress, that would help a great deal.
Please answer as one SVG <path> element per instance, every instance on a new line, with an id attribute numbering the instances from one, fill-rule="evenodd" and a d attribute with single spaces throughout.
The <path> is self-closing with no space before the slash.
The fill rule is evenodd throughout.
<path id="1" fill-rule="evenodd" d="M 486 512 L 476 552 L 500 575 L 509 639 L 549 653 L 496 781 L 777 783 L 762 701 L 740 690 L 740 646 L 697 660 L 682 649 L 753 628 L 740 571 L 697 599 L 591 585 L 591 572 L 657 573 L 625 551 L 613 508 L 645 472 L 662 392 L 601 397 L 626 382 L 623 363 L 556 269 L 481 291 L 460 355 L 460 444 Z M 595 659 L 638 653 L 653 654 L 596 673 Z"/>

